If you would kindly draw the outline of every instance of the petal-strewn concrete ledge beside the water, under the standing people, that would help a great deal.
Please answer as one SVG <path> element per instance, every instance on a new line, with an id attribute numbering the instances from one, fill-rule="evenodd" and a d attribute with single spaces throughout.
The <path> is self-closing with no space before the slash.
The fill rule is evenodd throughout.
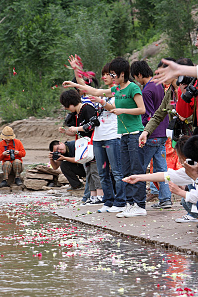
<path id="1" fill-rule="evenodd" d="M 180 202 L 176 201 L 172 208 L 163 210 L 153 210 L 151 204 L 147 203 L 147 216 L 131 218 L 117 218 L 116 213 L 99 213 L 100 206 L 70 206 L 52 213 L 73 222 L 198 256 L 198 223 L 175 222 L 176 218 L 186 214 Z"/>

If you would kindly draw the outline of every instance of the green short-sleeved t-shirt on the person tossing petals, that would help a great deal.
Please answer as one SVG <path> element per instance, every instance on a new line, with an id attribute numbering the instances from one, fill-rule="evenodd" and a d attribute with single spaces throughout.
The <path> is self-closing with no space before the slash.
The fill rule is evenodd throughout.
<path id="1" fill-rule="evenodd" d="M 120 86 L 112 87 L 111 92 L 113 94 L 115 93 L 113 96 L 115 97 L 116 108 L 137 108 L 138 106 L 133 98 L 136 94 L 142 95 L 140 88 L 134 83 L 130 83 L 130 85 L 122 90 L 120 90 Z M 118 133 L 130 133 L 138 130 L 143 131 L 144 128 L 141 114 L 133 115 L 122 113 L 118 116 Z"/>

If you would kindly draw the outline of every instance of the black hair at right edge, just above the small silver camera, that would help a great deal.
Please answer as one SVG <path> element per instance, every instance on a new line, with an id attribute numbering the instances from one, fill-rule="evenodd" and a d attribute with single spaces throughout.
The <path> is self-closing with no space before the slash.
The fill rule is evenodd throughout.
<path id="1" fill-rule="evenodd" d="M 194 135 L 189 138 L 183 148 L 183 151 L 186 158 L 198 162 L 198 135 Z"/>

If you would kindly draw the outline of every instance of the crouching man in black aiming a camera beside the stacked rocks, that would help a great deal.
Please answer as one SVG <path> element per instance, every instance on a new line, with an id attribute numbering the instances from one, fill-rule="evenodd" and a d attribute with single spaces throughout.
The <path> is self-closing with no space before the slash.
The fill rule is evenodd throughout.
<path id="1" fill-rule="evenodd" d="M 55 170 L 60 166 L 62 173 L 71 185 L 71 188 L 67 189 L 67 191 L 83 189 L 84 185 L 77 175 L 86 177 L 86 173 L 84 166 L 75 162 L 75 141 L 62 143 L 54 140 L 49 144 L 49 150 L 49 160 L 52 168 Z"/>

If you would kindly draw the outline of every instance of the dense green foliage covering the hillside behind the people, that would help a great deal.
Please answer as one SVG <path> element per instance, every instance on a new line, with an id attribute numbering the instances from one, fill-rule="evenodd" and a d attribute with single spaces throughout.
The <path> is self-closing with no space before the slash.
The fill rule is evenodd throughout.
<path id="1" fill-rule="evenodd" d="M 198 27 L 194 3 L 0 0 L 0 117 L 11 122 L 53 115 L 62 81 L 73 78 L 64 66 L 70 54 L 79 54 L 85 70 L 99 78 L 113 57 L 132 54 L 163 36 L 167 55 L 197 62 L 191 35 Z"/>

